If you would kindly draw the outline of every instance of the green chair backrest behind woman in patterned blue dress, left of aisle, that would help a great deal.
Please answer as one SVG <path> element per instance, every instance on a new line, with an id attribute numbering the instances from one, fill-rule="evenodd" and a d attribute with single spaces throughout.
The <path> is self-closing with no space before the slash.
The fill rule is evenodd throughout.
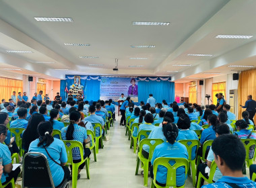
<path id="1" fill-rule="evenodd" d="M 75 140 L 63 140 L 65 144 L 65 148 L 67 151 L 67 164 L 72 164 L 73 162 L 73 155 L 72 155 L 72 149 L 73 148 L 79 148 L 81 161 L 84 161 L 84 146 L 81 142 L 75 141 Z"/>

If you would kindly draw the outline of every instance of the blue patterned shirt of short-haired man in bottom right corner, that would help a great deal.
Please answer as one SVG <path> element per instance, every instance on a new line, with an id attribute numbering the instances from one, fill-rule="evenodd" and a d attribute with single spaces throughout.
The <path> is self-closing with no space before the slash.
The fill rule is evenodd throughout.
<path id="1" fill-rule="evenodd" d="M 251 181 L 248 179 L 248 177 L 222 177 L 216 183 L 208 184 L 208 185 L 203 185 L 201 188 L 232 188 L 230 187 L 227 183 L 234 183 L 238 185 L 238 187 L 241 188 L 255 188 L 256 183 L 254 181 Z"/>

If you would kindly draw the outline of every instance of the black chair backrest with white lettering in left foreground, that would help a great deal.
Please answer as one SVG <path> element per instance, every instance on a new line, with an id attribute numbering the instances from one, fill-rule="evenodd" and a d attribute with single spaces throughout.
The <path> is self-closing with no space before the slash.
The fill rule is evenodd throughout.
<path id="1" fill-rule="evenodd" d="M 25 154 L 22 163 L 22 187 L 55 187 L 49 163 L 44 154 L 40 152 Z"/>

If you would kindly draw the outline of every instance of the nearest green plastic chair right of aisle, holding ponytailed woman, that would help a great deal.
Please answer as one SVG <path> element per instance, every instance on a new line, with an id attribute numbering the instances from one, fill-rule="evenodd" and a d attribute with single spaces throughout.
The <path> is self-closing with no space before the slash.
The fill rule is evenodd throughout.
<path id="1" fill-rule="evenodd" d="M 175 164 L 170 165 L 170 160 L 174 160 Z M 169 177 L 166 181 L 166 186 L 162 187 L 156 183 L 156 175 L 157 175 L 157 170 L 158 166 L 164 166 L 167 169 L 167 177 Z M 172 157 L 159 157 L 154 160 L 153 164 L 153 173 L 154 173 L 154 179 L 151 181 L 151 188 L 176 188 L 176 170 L 179 167 L 185 167 L 185 177 L 187 177 L 187 172 L 189 170 L 189 160 L 186 158 L 172 158 Z M 179 188 L 185 187 L 185 184 Z"/>

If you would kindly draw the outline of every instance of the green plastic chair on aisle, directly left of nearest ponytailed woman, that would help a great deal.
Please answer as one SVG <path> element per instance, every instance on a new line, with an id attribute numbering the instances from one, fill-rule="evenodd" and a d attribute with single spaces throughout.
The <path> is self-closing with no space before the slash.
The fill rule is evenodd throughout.
<path id="1" fill-rule="evenodd" d="M 150 141 L 154 141 L 154 144 L 152 144 Z M 143 164 L 143 170 L 144 170 L 144 186 L 148 186 L 148 164 L 152 159 L 153 153 L 154 153 L 154 149 L 156 148 L 156 146 L 158 146 L 159 144 L 162 144 L 164 141 L 162 139 L 143 139 L 141 140 L 141 142 L 139 143 L 139 150 L 137 153 L 137 166 L 136 166 L 136 171 L 135 171 L 135 175 L 138 174 L 139 171 L 139 162 L 141 161 L 141 164 Z M 141 153 L 143 145 L 147 144 L 148 146 L 150 146 L 150 152 L 149 152 L 149 156 L 148 158 L 145 158 L 143 156 L 143 154 Z"/>

